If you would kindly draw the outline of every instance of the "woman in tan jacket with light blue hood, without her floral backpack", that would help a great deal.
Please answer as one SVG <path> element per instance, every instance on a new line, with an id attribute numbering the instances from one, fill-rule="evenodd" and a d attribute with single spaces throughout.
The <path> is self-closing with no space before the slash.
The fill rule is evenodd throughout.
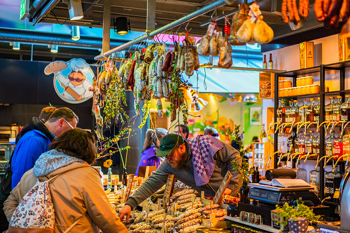
<path id="1" fill-rule="evenodd" d="M 104 233 L 127 233 L 109 204 L 99 172 L 90 166 L 95 158 L 90 133 L 79 128 L 63 133 L 11 191 L 3 208 L 7 219 L 10 221 L 18 203 L 37 179 L 45 181 L 60 174 L 49 184 L 55 211 L 54 233 L 64 233 L 86 212 L 70 233 L 99 233 L 98 228 Z"/>

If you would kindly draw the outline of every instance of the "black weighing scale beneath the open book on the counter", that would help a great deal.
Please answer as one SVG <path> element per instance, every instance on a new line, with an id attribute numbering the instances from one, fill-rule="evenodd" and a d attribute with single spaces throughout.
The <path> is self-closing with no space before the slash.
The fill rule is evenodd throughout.
<path id="1" fill-rule="evenodd" d="M 276 205 L 283 205 L 292 200 L 302 200 L 316 215 L 329 216 L 329 207 L 321 205 L 321 200 L 312 191 L 313 187 L 281 188 L 259 183 L 249 183 L 248 186 L 248 198 L 253 201 L 239 202 L 238 213 L 245 211 L 261 215 L 265 225 L 271 225 L 270 211 L 276 209 Z"/>

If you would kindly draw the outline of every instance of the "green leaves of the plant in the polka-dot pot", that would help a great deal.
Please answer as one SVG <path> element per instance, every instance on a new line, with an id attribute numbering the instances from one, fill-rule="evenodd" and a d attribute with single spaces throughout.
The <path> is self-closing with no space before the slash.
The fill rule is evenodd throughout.
<path id="1" fill-rule="evenodd" d="M 288 203 L 284 203 L 282 207 L 276 205 L 276 211 L 280 215 L 280 221 L 277 224 L 283 226 L 287 226 L 289 218 L 297 220 L 298 217 L 305 217 L 309 221 L 317 221 L 321 217 L 315 215 L 314 211 L 307 207 L 303 201 L 298 201 L 297 206 L 290 206 Z"/>

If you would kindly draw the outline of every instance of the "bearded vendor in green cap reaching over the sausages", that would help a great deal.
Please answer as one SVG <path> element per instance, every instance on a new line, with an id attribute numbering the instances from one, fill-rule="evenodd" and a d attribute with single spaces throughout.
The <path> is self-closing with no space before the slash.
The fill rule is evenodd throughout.
<path id="1" fill-rule="evenodd" d="M 131 210 L 161 188 L 169 174 L 176 175 L 177 180 L 198 192 L 204 191 L 206 196 L 214 196 L 229 170 L 233 177 L 224 195 L 236 197 L 243 179 L 230 162 L 234 160 L 242 164 L 241 158 L 236 159 L 239 154 L 238 150 L 210 135 L 200 134 L 187 140 L 176 133 L 165 135 L 160 141 L 157 156 L 166 159 L 129 197 L 118 216 L 128 219 Z"/>

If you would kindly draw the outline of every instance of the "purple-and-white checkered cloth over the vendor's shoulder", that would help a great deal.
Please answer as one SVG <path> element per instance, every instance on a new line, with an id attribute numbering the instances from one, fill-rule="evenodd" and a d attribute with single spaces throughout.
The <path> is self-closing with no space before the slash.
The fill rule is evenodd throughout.
<path id="1" fill-rule="evenodd" d="M 195 138 L 188 138 L 192 152 L 194 180 L 197 186 L 209 183 L 214 171 L 214 154 L 224 145 L 215 137 L 199 134 Z"/>

